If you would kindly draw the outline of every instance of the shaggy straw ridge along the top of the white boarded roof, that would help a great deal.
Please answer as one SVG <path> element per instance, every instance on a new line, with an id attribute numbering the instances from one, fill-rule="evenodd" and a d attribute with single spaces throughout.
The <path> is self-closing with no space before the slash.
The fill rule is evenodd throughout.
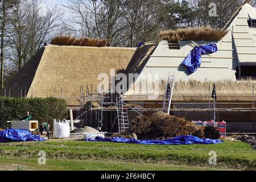
<path id="1" fill-rule="evenodd" d="M 228 34 L 227 30 L 215 30 L 210 27 L 179 28 L 161 31 L 159 38 L 167 40 L 169 43 L 178 43 L 181 40 L 219 41 L 226 34 Z"/>

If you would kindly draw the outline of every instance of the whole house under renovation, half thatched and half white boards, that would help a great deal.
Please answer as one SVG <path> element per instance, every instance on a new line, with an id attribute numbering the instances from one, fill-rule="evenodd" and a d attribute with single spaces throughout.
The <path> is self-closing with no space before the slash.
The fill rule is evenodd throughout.
<path id="1" fill-rule="evenodd" d="M 215 118 L 228 123 L 228 132 L 251 133 L 256 126 L 256 9 L 243 5 L 224 31 L 220 40 L 161 39 L 138 48 L 49 45 L 20 69 L 1 95 L 64 98 L 81 125 L 108 132 L 120 131 L 120 114 L 127 126 L 137 115 L 166 111 L 170 104 L 170 114 L 177 117 Z M 192 49 L 207 44 L 216 44 L 217 51 L 202 55 L 200 67 L 189 73 L 181 63 Z M 118 73 L 133 74 L 133 80 L 119 87 L 119 94 L 113 86 L 103 92 L 98 89 L 101 73 L 110 82 L 115 78 L 114 89 Z M 171 98 L 167 99 L 167 92 Z"/>

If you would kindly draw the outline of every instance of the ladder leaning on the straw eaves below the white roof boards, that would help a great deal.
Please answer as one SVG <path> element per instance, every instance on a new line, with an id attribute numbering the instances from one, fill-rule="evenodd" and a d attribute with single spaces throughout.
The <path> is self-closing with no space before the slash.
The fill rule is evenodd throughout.
<path id="1" fill-rule="evenodd" d="M 164 92 L 164 102 L 162 111 L 167 110 L 167 114 L 170 114 L 171 102 L 172 102 L 172 94 L 174 92 L 174 84 L 175 84 L 175 73 L 174 75 L 168 74 L 166 89 Z"/>

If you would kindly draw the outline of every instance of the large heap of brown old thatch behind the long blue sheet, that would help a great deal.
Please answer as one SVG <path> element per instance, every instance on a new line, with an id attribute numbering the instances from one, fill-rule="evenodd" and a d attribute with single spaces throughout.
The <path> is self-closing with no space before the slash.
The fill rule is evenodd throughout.
<path id="1" fill-rule="evenodd" d="M 221 136 L 216 127 L 196 126 L 195 123 L 163 112 L 153 114 L 150 119 L 142 115 L 138 116 L 131 122 L 129 130 L 115 137 L 131 138 L 132 133 L 135 133 L 139 139 L 165 139 L 182 135 L 218 139 Z"/>

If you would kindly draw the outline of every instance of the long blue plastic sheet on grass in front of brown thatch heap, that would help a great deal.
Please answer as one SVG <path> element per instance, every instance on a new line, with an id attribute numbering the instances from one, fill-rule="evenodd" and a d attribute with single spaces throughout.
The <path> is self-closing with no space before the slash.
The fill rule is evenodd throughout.
<path id="1" fill-rule="evenodd" d="M 217 144 L 222 143 L 222 140 L 214 139 L 201 139 L 191 135 L 175 137 L 165 140 L 138 140 L 138 139 L 127 139 L 127 138 L 102 138 L 96 137 L 96 139 L 85 139 L 87 142 L 116 142 L 116 143 L 136 143 L 136 144 Z"/>

